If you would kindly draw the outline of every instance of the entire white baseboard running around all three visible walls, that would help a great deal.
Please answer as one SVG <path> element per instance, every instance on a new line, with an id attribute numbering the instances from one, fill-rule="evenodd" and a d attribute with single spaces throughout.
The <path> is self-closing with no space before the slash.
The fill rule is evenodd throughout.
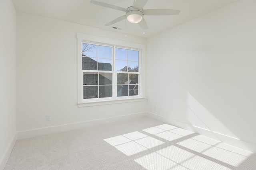
<path id="1" fill-rule="evenodd" d="M 252 144 L 252 143 L 249 143 L 249 142 L 246 142 L 246 141 L 242 141 L 240 139 L 236 139 L 234 137 L 230 137 L 230 136 L 227 136 L 227 135 L 224 135 L 224 134 L 209 131 L 208 129 L 195 127 L 191 124 L 187 124 L 187 123 L 184 123 L 184 122 L 180 122 L 180 121 L 177 121 L 177 120 L 174 120 L 174 119 L 170 119 L 170 118 L 163 117 L 161 115 L 157 115 L 157 114 L 149 113 L 149 112 L 147 112 L 147 113 L 135 113 L 135 114 L 130 114 L 130 115 L 116 116 L 116 117 L 108 117 L 108 118 L 104 118 L 104 119 L 96 119 L 96 120 L 90 120 L 90 121 L 84 121 L 84 122 L 78 122 L 78 123 L 71 123 L 71 124 L 66 124 L 66 125 L 58 125 L 58 126 L 53 126 L 53 127 L 32 129 L 32 130 L 28 130 L 28 131 L 20 131 L 20 132 L 17 132 L 17 136 L 12 139 L 12 143 L 13 143 L 13 141 L 16 141 L 17 138 L 18 139 L 25 139 L 25 138 L 29 138 L 29 137 L 47 135 L 47 134 L 51 134 L 51 133 L 58 133 L 58 132 L 69 131 L 69 130 L 73 130 L 73 129 L 81 129 L 81 128 L 88 127 L 88 126 L 102 125 L 102 124 L 111 123 L 111 122 L 115 122 L 115 121 L 128 120 L 128 119 L 133 119 L 133 118 L 138 118 L 138 117 L 143 117 L 143 116 L 152 117 L 154 119 L 163 121 L 165 123 L 174 125 L 176 127 L 180 127 L 182 129 L 193 131 L 193 132 L 198 133 L 200 135 L 204 135 L 206 137 L 210 137 L 212 139 L 221 141 L 223 143 L 227 143 L 229 145 L 232 145 L 232 146 L 235 146 L 235 147 L 238 147 L 238 148 L 256 153 L 256 145 L 255 144 Z M 14 142 L 14 144 L 15 144 L 15 142 Z M 9 148 L 11 148 L 11 150 L 12 150 L 14 144 L 10 145 Z M 10 150 L 10 152 L 11 152 L 11 150 Z M 8 155 L 7 151 L 6 151 L 5 155 Z M 9 155 L 6 156 L 6 157 L 9 157 Z M 6 160 L 6 162 L 7 162 L 7 160 Z M 4 162 L 4 161 L 2 161 L 2 162 Z M 2 165 L 2 162 L 0 162 L 1 165 Z M 0 170 L 1 170 L 1 168 L 0 168 Z"/>

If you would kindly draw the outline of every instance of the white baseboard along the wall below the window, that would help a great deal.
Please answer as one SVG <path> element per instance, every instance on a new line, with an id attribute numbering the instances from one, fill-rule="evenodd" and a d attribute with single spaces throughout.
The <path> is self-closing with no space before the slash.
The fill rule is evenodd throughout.
<path id="1" fill-rule="evenodd" d="M 147 115 L 147 113 L 135 113 L 135 114 L 129 114 L 129 115 L 108 117 L 108 118 L 104 118 L 104 119 L 95 119 L 95 120 L 83 121 L 83 122 L 78 122 L 78 123 L 70 123 L 70 124 L 66 124 L 66 125 L 58 125 L 58 126 L 45 127 L 45 128 L 40 128 L 40 129 L 32 129 L 32 130 L 28 130 L 28 131 L 19 131 L 19 132 L 17 132 L 17 135 L 18 135 L 18 139 L 25 139 L 25 138 L 30 138 L 30 137 L 40 136 L 40 135 L 58 133 L 58 132 L 62 132 L 62 131 L 81 129 L 81 128 L 93 126 L 93 125 L 102 125 L 102 124 L 111 123 L 111 122 L 115 122 L 115 121 L 128 120 L 128 119 L 143 117 L 146 115 Z"/>

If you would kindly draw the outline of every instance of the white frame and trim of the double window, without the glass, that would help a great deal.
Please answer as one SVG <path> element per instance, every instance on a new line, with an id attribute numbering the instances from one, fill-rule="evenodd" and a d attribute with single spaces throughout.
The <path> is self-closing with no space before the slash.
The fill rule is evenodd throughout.
<path id="1" fill-rule="evenodd" d="M 84 33 L 76 33 L 77 38 L 77 101 L 78 107 L 86 107 L 86 106 L 98 106 L 98 105 L 107 105 L 107 104 L 118 104 L 118 103 L 126 103 L 126 102 L 140 102 L 146 100 L 145 98 L 145 51 L 146 45 L 140 43 L 133 43 L 128 41 L 122 41 L 112 38 L 99 37 L 95 35 L 88 35 Z M 94 98 L 92 99 L 83 99 L 83 70 L 82 70 L 82 43 L 92 43 L 98 45 L 110 45 L 116 48 L 123 49 L 132 49 L 138 50 L 140 53 L 139 57 L 139 92 L 138 96 L 123 96 L 116 97 L 113 96 L 113 92 L 116 92 L 116 72 L 113 70 L 112 74 L 112 97 L 111 98 Z M 113 53 L 115 53 L 114 49 L 112 49 Z M 114 54 L 115 55 L 115 54 Z M 115 65 L 115 60 L 112 58 L 112 63 Z M 113 68 L 114 69 L 114 68 Z M 87 71 L 86 71 L 87 72 Z M 90 70 L 88 70 L 90 72 Z M 98 71 L 102 72 L 102 71 Z M 104 72 L 104 71 L 103 71 Z M 130 73 L 132 72 L 122 72 L 122 73 Z"/>

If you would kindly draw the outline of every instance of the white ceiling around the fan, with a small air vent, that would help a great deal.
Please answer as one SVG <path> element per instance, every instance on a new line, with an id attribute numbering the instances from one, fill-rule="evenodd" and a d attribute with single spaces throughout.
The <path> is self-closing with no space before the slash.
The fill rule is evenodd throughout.
<path id="1" fill-rule="evenodd" d="M 132 6 L 134 2 L 134 0 L 97 1 L 123 8 Z M 238 0 L 148 0 L 148 3 L 143 8 L 144 10 L 166 8 L 181 10 L 181 12 L 179 15 L 174 16 L 144 16 L 149 29 L 145 30 L 145 35 L 143 35 L 143 30 L 138 24 L 129 23 L 126 20 L 105 26 L 106 23 L 125 15 L 125 12 L 91 4 L 90 0 L 12 0 L 16 10 L 19 12 L 141 37 L 150 37 L 236 1 Z M 113 29 L 112 27 L 118 27 L 121 30 Z"/>

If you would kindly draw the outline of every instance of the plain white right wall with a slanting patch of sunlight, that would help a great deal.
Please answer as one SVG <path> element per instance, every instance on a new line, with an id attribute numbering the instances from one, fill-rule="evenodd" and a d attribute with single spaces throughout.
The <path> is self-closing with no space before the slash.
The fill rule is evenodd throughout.
<path id="1" fill-rule="evenodd" d="M 255 7 L 240 0 L 148 39 L 148 111 L 256 151 Z"/>

